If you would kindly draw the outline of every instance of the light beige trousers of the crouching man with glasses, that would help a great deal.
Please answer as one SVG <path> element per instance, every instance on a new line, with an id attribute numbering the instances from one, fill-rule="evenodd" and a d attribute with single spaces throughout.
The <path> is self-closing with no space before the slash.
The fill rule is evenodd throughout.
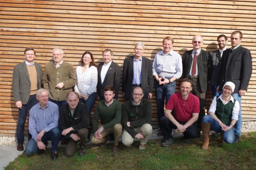
<path id="1" fill-rule="evenodd" d="M 148 142 L 148 137 L 152 133 L 152 126 L 148 123 L 144 124 L 141 127 L 134 128 L 134 130 L 138 133 L 142 133 L 144 136 L 143 139 L 140 139 L 140 144 L 146 144 Z M 130 146 L 134 141 L 134 138 L 124 129 L 122 133 L 122 143 L 125 146 Z"/>

